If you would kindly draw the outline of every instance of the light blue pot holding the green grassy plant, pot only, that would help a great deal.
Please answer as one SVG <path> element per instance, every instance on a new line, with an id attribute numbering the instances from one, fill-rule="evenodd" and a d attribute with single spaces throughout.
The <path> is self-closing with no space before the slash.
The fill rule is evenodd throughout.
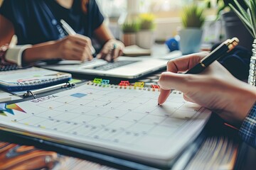
<path id="1" fill-rule="evenodd" d="M 183 55 L 199 52 L 203 30 L 200 28 L 184 28 L 178 31 L 180 50 Z"/>

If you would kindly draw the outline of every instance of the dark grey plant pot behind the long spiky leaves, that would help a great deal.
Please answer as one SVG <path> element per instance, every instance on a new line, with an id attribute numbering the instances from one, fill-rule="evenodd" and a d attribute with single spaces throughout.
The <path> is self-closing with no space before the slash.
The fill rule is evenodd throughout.
<path id="1" fill-rule="evenodd" d="M 225 39 L 236 37 L 239 39 L 239 45 L 247 48 L 247 50 L 251 50 L 252 35 L 245 28 L 240 18 L 233 11 L 222 13 L 221 17 L 224 21 Z"/>

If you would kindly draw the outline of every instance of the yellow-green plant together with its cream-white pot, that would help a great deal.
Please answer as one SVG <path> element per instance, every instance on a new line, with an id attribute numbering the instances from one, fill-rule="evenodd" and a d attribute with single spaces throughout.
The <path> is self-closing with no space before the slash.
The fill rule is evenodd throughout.
<path id="1" fill-rule="evenodd" d="M 151 13 L 142 13 L 139 15 L 139 32 L 137 33 L 137 45 L 139 47 L 150 49 L 154 43 L 154 18 Z"/>

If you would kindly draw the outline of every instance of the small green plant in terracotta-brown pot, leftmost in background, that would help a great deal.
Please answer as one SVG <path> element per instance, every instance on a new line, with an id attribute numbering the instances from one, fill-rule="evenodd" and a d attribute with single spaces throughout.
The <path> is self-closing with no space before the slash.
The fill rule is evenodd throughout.
<path id="1" fill-rule="evenodd" d="M 136 44 L 136 33 L 139 31 L 139 23 L 130 21 L 122 25 L 122 41 L 125 46 Z"/>

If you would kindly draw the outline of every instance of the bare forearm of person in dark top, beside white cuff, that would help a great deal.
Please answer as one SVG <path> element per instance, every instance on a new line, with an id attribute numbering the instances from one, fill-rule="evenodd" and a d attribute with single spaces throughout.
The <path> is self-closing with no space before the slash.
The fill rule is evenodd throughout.
<path id="1" fill-rule="evenodd" d="M 25 64 L 37 62 L 40 60 L 49 60 L 58 58 L 58 49 L 55 41 L 43 42 L 33 45 L 23 52 L 23 62 Z"/>

